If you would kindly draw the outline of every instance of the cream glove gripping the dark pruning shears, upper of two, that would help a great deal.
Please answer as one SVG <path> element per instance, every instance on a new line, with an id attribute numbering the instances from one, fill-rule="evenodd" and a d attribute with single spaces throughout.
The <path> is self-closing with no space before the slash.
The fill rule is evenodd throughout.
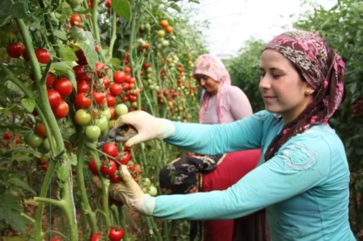
<path id="1" fill-rule="evenodd" d="M 132 111 L 122 115 L 112 127 L 117 128 L 125 124 L 134 126 L 138 132 L 136 136 L 125 143 L 126 146 L 132 146 L 143 141 L 168 138 L 175 132 L 172 121 L 154 117 L 144 111 Z"/>

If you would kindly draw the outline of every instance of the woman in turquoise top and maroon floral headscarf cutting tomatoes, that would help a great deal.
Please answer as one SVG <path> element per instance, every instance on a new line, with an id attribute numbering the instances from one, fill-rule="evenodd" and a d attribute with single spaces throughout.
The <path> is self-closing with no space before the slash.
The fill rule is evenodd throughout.
<path id="1" fill-rule="evenodd" d="M 122 166 L 110 195 L 164 219 L 235 219 L 266 208 L 272 241 L 353 241 L 348 221 L 349 169 L 344 145 L 328 125 L 343 99 L 344 62 L 314 33 L 275 37 L 262 52 L 265 111 L 229 124 L 201 125 L 131 112 L 116 126 L 134 125 L 126 145 L 164 139 L 201 154 L 262 149 L 263 163 L 224 191 L 144 194 Z M 241 160 L 242 162 L 243 160 Z"/>

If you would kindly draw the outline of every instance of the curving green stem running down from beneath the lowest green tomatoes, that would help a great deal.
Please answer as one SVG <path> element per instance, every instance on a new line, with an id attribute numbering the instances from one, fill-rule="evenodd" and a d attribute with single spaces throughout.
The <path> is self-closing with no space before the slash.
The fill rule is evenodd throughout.
<path id="1" fill-rule="evenodd" d="M 83 128 L 80 128 L 79 133 L 82 133 L 82 132 L 83 132 Z M 87 190 L 86 190 L 86 186 L 85 186 L 85 178 L 83 176 L 84 153 L 85 153 L 85 137 L 83 136 L 83 134 L 79 134 L 78 155 L 77 155 L 77 182 L 78 182 L 79 192 L 81 194 L 83 208 L 85 209 L 85 213 L 87 215 L 87 220 L 91 227 L 91 232 L 92 232 L 92 234 L 95 234 L 95 233 L 97 233 L 96 215 L 92 211 L 90 203 L 88 201 Z"/>

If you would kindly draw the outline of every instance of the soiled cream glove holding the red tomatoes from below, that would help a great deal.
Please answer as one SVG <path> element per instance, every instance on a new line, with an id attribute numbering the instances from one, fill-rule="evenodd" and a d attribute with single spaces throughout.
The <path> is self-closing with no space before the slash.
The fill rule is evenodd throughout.
<path id="1" fill-rule="evenodd" d="M 110 184 L 109 196 L 121 201 L 136 212 L 151 216 L 154 211 L 155 198 L 149 194 L 144 194 L 127 170 L 126 165 L 121 165 L 120 173 L 122 182 Z M 97 188 L 102 188 L 99 176 L 93 175 L 92 181 Z"/>

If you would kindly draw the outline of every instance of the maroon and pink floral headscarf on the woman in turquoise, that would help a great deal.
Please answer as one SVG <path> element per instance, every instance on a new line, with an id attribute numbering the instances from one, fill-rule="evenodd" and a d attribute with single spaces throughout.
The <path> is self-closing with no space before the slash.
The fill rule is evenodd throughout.
<path id="1" fill-rule="evenodd" d="M 283 33 L 265 49 L 276 50 L 289 59 L 315 90 L 313 101 L 271 142 L 265 153 L 268 161 L 290 138 L 313 125 L 327 124 L 343 99 L 345 65 L 321 37 L 303 30 Z"/>

